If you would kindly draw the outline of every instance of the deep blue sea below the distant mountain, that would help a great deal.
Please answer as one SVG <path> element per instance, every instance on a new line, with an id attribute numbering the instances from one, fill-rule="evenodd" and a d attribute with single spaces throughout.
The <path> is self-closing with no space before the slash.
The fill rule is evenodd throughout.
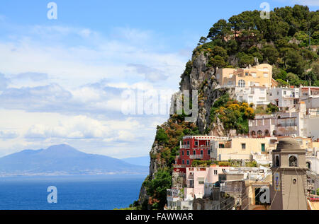
<path id="1" fill-rule="evenodd" d="M 0 210 L 113 210 L 138 199 L 144 175 L 0 177 Z M 48 203 L 47 187 L 57 188 Z"/>

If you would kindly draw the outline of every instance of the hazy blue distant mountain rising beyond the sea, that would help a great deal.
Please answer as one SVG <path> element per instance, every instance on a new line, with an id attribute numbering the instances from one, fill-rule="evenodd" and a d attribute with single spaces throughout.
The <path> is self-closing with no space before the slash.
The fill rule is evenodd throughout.
<path id="1" fill-rule="evenodd" d="M 67 145 L 24 150 L 0 158 L 0 176 L 147 174 L 148 167 Z"/>

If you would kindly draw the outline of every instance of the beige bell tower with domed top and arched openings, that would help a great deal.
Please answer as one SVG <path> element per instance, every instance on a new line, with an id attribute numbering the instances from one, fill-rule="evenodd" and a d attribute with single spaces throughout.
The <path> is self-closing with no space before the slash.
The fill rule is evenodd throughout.
<path id="1" fill-rule="evenodd" d="M 306 210 L 306 151 L 293 138 L 282 138 L 272 151 L 272 210 Z"/>

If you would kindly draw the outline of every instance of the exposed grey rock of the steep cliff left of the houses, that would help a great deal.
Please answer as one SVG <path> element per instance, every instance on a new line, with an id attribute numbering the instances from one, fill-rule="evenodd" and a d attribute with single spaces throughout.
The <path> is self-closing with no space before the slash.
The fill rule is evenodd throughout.
<path id="1" fill-rule="evenodd" d="M 184 72 L 181 75 L 180 91 L 175 93 L 177 96 L 181 96 L 184 90 L 198 90 L 198 117 L 196 121 L 196 126 L 201 134 L 215 135 L 215 136 L 225 136 L 228 135 L 223 124 L 217 119 L 216 123 L 212 123 L 210 120 L 210 111 L 213 102 L 221 95 L 229 93 L 230 96 L 234 95 L 234 90 L 230 88 L 220 88 L 216 81 L 215 69 L 207 66 L 207 57 L 201 53 L 196 58 L 191 61 L 191 72 Z M 172 104 L 174 104 L 172 100 Z M 174 108 L 174 105 L 171 105 Z M 155 173 L 159 168 L 167 166 L 167 164 L 162 163 L 162 160 L 157 158 L 157 154 L 162 151 L 162 146 L 154 141 L 151 151 L 150 151 L 150 175 L 149 178 L 153 179 Z M 180 177 L 173 177 L 173 182 Z M 177 181 L 178 182 L 178 181 Z M 140 189 L 139 202 L 147 200 L 149 196 L 144 186 Z"/>

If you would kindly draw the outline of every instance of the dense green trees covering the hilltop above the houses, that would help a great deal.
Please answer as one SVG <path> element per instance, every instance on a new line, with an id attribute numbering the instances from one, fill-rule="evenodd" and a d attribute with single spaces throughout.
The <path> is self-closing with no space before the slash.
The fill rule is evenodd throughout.
<path id="1" fill-rule="evenodd" d="M 274 78 L 283 86 L 318 86 L 318 43 L 319 11 L 308 6 L 274 8 L 269 19 L 257 10 L 244 11 L 214 23 L 193 58 L 203 52 L 207 65 L 219 68 L 254 65 L 258 59 L 280 71 Z"/>

